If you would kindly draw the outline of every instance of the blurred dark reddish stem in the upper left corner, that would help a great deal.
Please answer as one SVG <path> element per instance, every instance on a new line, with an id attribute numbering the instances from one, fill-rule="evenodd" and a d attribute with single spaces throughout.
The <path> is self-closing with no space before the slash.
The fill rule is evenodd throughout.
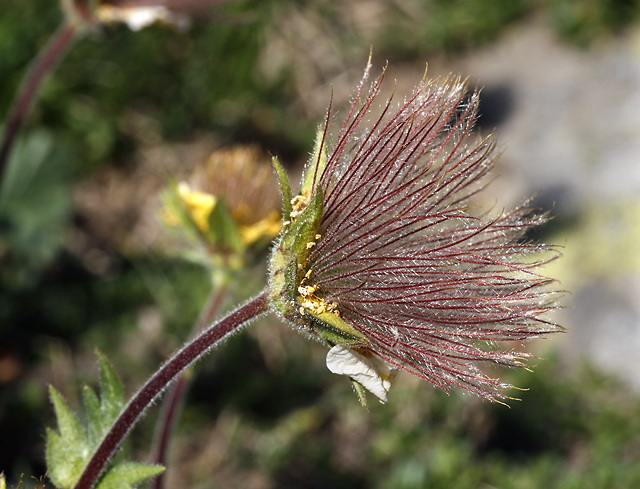
<path id="1" fill-rule="evenodd" d="M 33 105 L 40 83 L 53 70 L 58 61 L 62 59 L 67 49 L 78 37 L 77 34 L 81 31 L 82 28 L 78 25 L 68 21 L 64 22 L 35 59 L 16 93 L 13 105 L 6 118 L 2 146 L 0 146 L 0 184 L 4 177 L 11 149 Z"/>

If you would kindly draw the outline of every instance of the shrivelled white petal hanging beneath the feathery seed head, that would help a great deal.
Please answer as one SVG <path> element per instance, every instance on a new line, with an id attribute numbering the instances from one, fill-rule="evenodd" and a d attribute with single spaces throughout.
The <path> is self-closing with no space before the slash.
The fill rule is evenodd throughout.
<path id="1" fill-rule="evenodd" d="M 327 368 L 334 374 L 349 376 L 382 403 L 387 402 L 395 370 L 381 358 L 367 358 L 347 346 L 336 345 L 327 353 Z"/>

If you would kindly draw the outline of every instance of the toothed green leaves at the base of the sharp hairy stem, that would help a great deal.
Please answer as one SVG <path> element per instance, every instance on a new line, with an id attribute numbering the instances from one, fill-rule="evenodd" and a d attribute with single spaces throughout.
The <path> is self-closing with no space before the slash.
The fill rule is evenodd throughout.
<path id="1" fill-rule="evenodd" d="M 96 350 L 100 365 L 101 398 L 88 386 L 82 392 L 87 425 L 69 409 L 62 396 L 50 387 L 51 402 L 58 420 L 58 432 L 47 429 L 47 470 L 51 481 L 61 489 L 72 488 L 124 406 L 124 390 L 113 366 Z M 163 468 L 121 462 L 108 470 L 98 487 L 128 489 L 154 477 Z M 103 484 L 107 484 L 103 486 Z"/>

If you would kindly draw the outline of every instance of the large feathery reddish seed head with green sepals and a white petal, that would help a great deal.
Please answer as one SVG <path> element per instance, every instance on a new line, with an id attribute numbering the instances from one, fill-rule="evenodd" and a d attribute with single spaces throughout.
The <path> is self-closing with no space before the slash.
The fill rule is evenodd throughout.
<path id="1" fill-rule="evenodd" d="M 299 195 L 274 159 L 285 223 L 271 307 L 331 349 L 327 366 L 363 403 L 363 386 L 386 402 L 398 369 L 447 392 L 507 398 L 480 367 L 523 367 L 529 354 L 510 342 L 562 329 L 547 318 L 560 293 L 536 271 L 557 250 L 523 241 L 547 216 L 528 202 L 476 209 L 495 138 L 473 137 L 478 94 L 465 82 L 423 81 L 369 121 L 384 77 L 367 91 L 369 70 L 330 148 L 327 115 Z"/>

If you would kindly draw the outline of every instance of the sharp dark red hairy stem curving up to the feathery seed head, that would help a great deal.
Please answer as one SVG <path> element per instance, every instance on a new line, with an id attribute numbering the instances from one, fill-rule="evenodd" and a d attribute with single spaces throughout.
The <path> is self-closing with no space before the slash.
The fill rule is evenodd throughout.
<path id="1" fill-rule="evenodd" d="M 129 430 L 140 419 L 146 408 L 180 372 L 202 357 L 217 342 L 266 311 L 267 293 L 263 291 L 221 321 L 207 328 L 182 350 L 175 353 L 151 376 L 120 413 L 89 460 L 74 489 L 91 489 L 95 485 L 107 462 L 118 450 Z"/>

